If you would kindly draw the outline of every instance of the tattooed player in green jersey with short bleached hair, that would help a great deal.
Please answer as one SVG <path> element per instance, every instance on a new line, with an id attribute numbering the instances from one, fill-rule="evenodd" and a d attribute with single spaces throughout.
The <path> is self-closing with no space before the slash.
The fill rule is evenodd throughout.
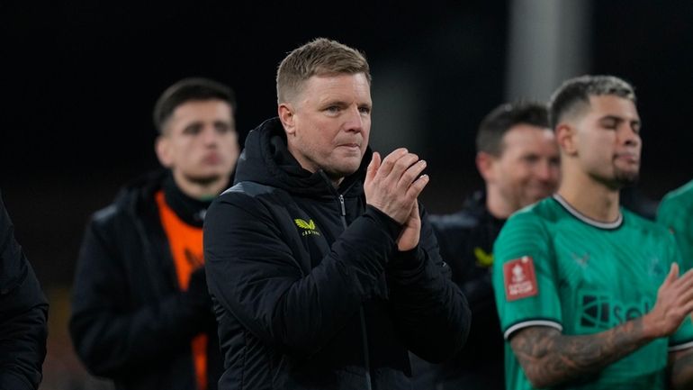
<path id="1" fill-rule="evenodd" d="M 493 247 L 507 388 L 692 388 L 693 272 L 669 231 L 619 202 L 640 172 L 633 86 L 574 77 L 550 113 L 561 184 Z"/>

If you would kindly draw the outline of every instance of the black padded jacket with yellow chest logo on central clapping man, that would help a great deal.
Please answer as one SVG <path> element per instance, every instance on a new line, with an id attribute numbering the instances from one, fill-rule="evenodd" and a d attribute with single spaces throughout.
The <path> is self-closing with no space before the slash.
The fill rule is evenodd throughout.
<path id="1" fill-rule="evenodd" d="M 370 159 L 334 188 L 302 169 L 277 118 L 247 136 L 236 185 L 204 222 L 223 390 L 410 389 L 408 349 L 455 355 L 470 314 L 422 216 L 419 246 L 365 204 Z"/>

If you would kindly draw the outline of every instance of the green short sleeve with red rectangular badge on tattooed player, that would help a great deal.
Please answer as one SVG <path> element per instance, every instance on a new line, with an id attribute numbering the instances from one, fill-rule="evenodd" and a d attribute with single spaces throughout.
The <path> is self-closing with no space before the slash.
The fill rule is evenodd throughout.
<path id="1" fill-rule="evenodd" d="M 554 254 L 542 220 L 531 212 L 511 216 L 493 254 L 493 289 L 506 339 L 525 326 L 562 329 Z"/>

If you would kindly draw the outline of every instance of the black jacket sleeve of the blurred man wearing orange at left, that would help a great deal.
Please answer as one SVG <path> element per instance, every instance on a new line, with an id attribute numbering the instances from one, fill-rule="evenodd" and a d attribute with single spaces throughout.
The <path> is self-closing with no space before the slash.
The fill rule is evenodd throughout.
<path id="1" fill-rule="evenodd" d="M 174 352 L 189 348 L 190 340 L 209 327 L 213 315 L 211 303 L 189 292 L 157 295 L 151 287 L 151 296 L 135 293 L 133 286 L 151 283 L 143 275 L 147 268 L 127 266 L 134 262 L 124 261 L 127 251 L 120 249 L 132 243 L 122 239 L 127 233 L 116 227 L 112 217 L 97 213 L 85 231 L 69 332 L 77 355 L 92 374 L 133 376 L 153 361 L 165 364 Z"/>

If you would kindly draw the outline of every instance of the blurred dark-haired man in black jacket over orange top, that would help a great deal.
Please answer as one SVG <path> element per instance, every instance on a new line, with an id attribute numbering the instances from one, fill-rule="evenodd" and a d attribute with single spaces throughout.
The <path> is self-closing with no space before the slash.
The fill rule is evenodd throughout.
<path id="1" fill-rule="evenodd" d="M 221 358 L 202 256 L 211 200 L 238 159 L 229 86 L 191 77 L 154 109 L 163 168 L 94 213 L 77 259 L 69 331 L 116 389 L 215 389 Z"/>

